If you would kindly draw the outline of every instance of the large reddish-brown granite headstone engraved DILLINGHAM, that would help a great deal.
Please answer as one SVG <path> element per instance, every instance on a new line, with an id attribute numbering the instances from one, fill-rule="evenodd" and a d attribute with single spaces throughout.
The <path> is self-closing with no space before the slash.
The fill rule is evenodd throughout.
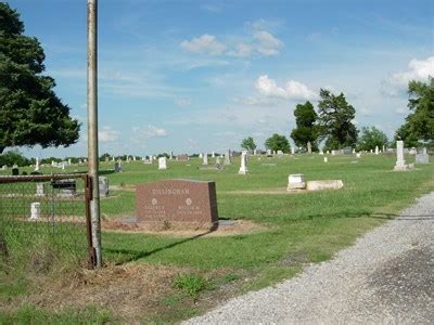
<path id="1" fill-rule="evenodd" d="M 215 182 L 166 180 L 136 186 L 138 223 L 158 230 L 213 229 L 218 222 Z"/>

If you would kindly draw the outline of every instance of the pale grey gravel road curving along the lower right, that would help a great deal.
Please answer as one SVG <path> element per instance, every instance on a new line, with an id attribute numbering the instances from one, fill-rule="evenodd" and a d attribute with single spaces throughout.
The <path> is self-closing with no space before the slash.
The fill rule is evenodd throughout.
<path id="1" fill-rule="evenodd" d="M 184 324 L 434 324 L 434 192 L 324 263 Z"/>

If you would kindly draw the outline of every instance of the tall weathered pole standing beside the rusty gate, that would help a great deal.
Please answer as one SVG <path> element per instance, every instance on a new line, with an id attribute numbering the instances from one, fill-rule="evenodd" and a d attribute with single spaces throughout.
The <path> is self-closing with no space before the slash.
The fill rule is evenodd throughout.
<path id="1" fill-rule="evenodd" d="M 100 191 L 98 181 L 98 0 L 88 0 L 88 166 L 92 180 L 90 218 L 94 266 L 102 265 Z"/>

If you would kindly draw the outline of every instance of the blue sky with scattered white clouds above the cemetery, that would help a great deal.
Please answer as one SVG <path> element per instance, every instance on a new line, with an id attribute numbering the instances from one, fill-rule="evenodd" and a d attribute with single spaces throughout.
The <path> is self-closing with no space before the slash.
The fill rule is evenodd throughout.
<path id="1" fill-rule="evenodd" d="M 28 157 L 87 155 L 86 2 L 9 1 L 82 123 L 77 144 Z M 100 0 L 98 24 L 100 154 L 264 148 L 321 88 L 346 95 L 358 129 L 393 136 L 408 81 L 434 76 L 431 0 Z"/>

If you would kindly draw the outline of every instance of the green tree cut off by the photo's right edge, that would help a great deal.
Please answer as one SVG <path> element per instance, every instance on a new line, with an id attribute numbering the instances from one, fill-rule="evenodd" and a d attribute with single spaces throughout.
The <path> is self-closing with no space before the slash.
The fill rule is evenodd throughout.
<path id="1" fill-rule="evenodd" d="M 434 140 L 434 77 L 429 77 L 427 83 L 411 80 L 408 94 L 410 114 L 395 138 L 404 140 L 407 146 L 414 146 L 417 140 Z"/>

